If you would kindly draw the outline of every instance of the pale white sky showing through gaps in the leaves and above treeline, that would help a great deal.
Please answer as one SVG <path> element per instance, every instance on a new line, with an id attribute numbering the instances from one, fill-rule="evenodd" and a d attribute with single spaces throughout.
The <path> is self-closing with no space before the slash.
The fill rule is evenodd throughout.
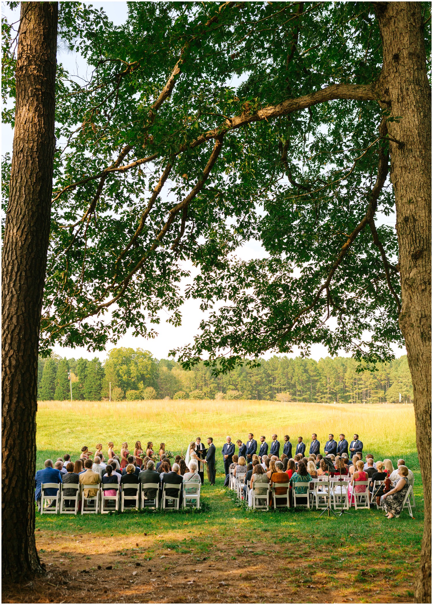
<path id="1" fill-rule="evenodd" d="M 86 3 L 90 4 L 90 3 Z M 117 25 L 122 24 L 126 20 L 127 16 L 127 8 L 126 2 L 91 2 L 94 7 L 103 7 L 105 9 L 106 15 Z M 19 11 L 19 7 L 17 9 Z M 17 14 L 15 11 L 15 14 Z M 9 16 L 11 11 L 8 7 L 2 3 L 2 14 Z M 19 15 L 19 13 L 18 13 Z M 16 17 L 14 21 L 16 20 Z M 63 66 L 69 70 L 70 72 L 82 73 L 82 70 L 85 71 L 85 62 L 83 62 L 80 57 L 77 57 L 74 53 L 67 53 L 62 51 L 59 48 L 57 53 L 57 60 L 63 64 Z M 235 85 L 233 80 L 229 82 L 230 85 Z M 12 142 L 13 142 L 13 131 L 10 126 L 2 124 L 2 155 L 9 151 L 12 151 Z M 387 217 L 386 222 L 392 221 L 392 217 Z M 261 244 L 256 241 L 250 241 L 245 244 L 241 249 L 238 250 L 237 256 L 242 258 L 243 260 L 250 260 L 252 258 L 262 258 L 264 257 L 265 252 L 262 248 Z M 172 348 L 181 347 L 183 345 L 189 344 L 194 340 L 194 335 L 198 332 L 198 325 L 200 324 L 201 319 L 203 318 L 203 313 L 200 311 L 200 301 L 192 301 L 189 300 L 181 307 L 182 314 L 182 325 L 180 327 L 174 327 L 171 324 L 166 322 L 168 318 L 168 313 L 161 313 L 160 319 L 161 323 L 159 326 L 155 326 L 155 329 L 158 331 L 157 338 L 154 339 L 145 339 L 145 338 L 134 338 L 131 335 L 132 330 L 129 331 L 120 341 L 117 342 L 116 345 L 108 345 L 107 350 L 116 347 L 132 347 L 132 348 L 143 348 L 152 353 L 152 355 L 157 358 L 166 358 L 168 355 L 168 351 Z M 406 351 L 398 347 L 393 347 L 394 353 L 397 357 L 400 355 L 405 355 Z M 54 353 L 58 355 L 66 356 L 67 358 L 93 358 L 97 356 L 103 361 L 106 358 L 106 352 L 90 352 L 87 348 L 77 347 L 77 348 L 62 348 L 59 346 L 54 347 Z M 288 357 L 295 357 L 299 352 L 297 349 L 294 350 L 292 354 L 288 354 Z M 341 355 L 347 355 L 347 353 L 341 351 Z M 264 355 L 265 358 L 269 358 L 274 355 L 274 353 L 269 353 Z M 313 345 L 311 347 L 311 358 L 316 359 L 317 361 L 321 357 L 325 357 L 328 355 L 327 348 L 323 345 Z"/>

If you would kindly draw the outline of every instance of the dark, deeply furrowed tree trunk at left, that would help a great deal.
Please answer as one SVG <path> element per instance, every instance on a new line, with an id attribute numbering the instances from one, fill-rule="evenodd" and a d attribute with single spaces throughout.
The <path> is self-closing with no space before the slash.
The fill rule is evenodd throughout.
<path id="1" fill-rule="evenodd" d="M 2 254 L 2 575 L 12 580 L 41 571 L 34 541 L 37 350 L 50 235 L 57 10 L 57 2 L 21 4 L 16 64 Z"/>

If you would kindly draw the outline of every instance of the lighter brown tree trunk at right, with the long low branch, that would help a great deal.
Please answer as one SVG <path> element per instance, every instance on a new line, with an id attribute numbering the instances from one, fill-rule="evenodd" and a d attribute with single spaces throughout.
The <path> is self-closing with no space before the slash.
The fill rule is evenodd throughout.
<path id="1" fill-rule="evenodd" d="M 391 181 L 396 195 L 402 282 L 400 327 L 414 386 L 417 450 L 424 489 L 424 535 L 417 603 L 431 603 L 431 90 L 421 5 L 375 4 L 383 41 L 379 78 L 390 111 Z"/>

